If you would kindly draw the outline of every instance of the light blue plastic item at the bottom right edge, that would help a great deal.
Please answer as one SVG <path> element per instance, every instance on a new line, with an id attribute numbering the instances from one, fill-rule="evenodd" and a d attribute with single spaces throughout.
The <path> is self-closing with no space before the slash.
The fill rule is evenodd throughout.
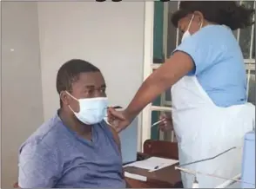
<path id="1" fill-rule="evenodd" d="M 255 131 L 245 136 L 243 163 L 242 163 L 242 188 L 255 188 Z"/>

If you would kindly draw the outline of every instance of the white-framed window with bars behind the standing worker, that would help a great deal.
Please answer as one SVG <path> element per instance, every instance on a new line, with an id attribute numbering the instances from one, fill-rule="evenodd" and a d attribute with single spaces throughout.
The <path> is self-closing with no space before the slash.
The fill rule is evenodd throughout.
<path id="1" fill-rule="evenodd" d="M 244 4 L 246 7 L 254 7 L 254 1 L 239 1 L 239 3 Z M 175 29 L 172 26 L 170 17 L 172 13 L 179 9 L 179 2 L 154 2 L 152 5 L 154 8 L 154 30 L 153 30 L 153 60 L 152 62 L 145 62 L 150 64 L 148 69 L 145 69 L 145 78 L 150 75 L 153 69 L 158 68 L 165 59 L 172 53 L 181 40 L 181 34 L 179 29 Z M 236 36 L 239 45 L 242 49 L 247 73 L 247 95 L 248 101 L 255 104 L 255 24 L 253 27 L 248 27 L 246 29 L 238 29 L 233 32 Z M 147 72 L 147 73 L 146 73 Z M 171 91 L 167 90 L 164 94 L 158 97 L 157 101 L 154 101 L 148 108 L 145 109 L 144 114 L 150 114 L 147 118 L 151 121 L 146 121 L 150 124 L 158 121 L 158 115 L 160 112 L 169 110 L 172 106 Z M 143 120 L 145 122 L 145 120 Z M 158 140 L 173 140 L 172 134 L 162 134 L 158 132 L 158 129 L 154 127 L 143 126 L 147 129 L 147 134 L 151 134 L 152 139 Z M 143 131 L 144 132 L 144 131 Z M 146 140 L 142 139 L 143 141 Z"/>

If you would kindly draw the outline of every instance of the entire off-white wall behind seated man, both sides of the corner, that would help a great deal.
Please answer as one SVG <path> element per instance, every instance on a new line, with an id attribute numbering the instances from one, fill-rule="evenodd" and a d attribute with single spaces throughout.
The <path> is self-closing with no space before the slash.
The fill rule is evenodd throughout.
<path id="1" fill-rule="evenodd" d="M 2 4 L 2 187 L 17 180 L 18 147 L 56 113 L 56 75 L 64 62 L 81 58 L 95 64 L 111 104 L 125 107 L 131 101 L 143 80 L 144 6 Z"/>

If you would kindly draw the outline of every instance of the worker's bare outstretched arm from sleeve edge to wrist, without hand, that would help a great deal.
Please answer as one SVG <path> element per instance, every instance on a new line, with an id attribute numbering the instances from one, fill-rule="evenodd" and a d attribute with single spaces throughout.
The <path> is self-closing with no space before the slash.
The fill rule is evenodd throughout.
<path id="1" fill-rule="evenodd" d="M 137 94 L 125 109 L 129 119 L 134 119 L 145 106 L 154 101 L 167 88 L 171 88 L 181 77 L 192 71 L 194 63 L 192 57 L 184 52 L 175 52 L 152 75 L 150 75 L 138 89 Z"/>

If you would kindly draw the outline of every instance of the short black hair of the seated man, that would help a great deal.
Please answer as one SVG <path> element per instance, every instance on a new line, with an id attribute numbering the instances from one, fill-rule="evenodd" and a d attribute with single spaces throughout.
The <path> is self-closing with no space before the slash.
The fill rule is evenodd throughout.
<path id="1" fill-rule="evenodd" d="M 79 79 L 81 73 L 100 72 L 99 68 L 90 62 L 80 59 L 72 59 L 65 62 L 57 72 L 56 88 L 60 95 L 62 91 L 72 92 L 72 83 Z"/>

